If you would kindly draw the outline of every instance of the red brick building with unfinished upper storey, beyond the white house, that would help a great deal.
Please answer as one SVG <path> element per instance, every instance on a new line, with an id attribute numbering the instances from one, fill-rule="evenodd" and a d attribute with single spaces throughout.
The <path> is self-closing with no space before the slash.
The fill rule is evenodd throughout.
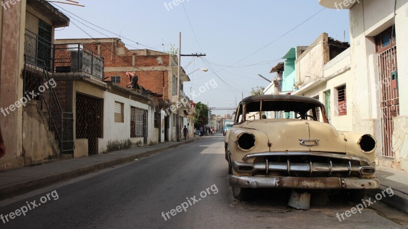
<path id="1" fill-rule="evenodd" d="M 99 39 L 59 39 L 56 43 L 81 43 L 104 57 L 104 80 L 121 87 L 129 87 L 131 78 L 126 72 L 138 76 L 138 85 L 163 97 L 157 105 L 162 109 L 163 129 L 160 141 L 176 140 L 176 109 L 177 106 L 177 58 L 168 53 L 149 49 L 128 49 L 119 38 Z M 190 98 L 183 91 L 183 82 L 190 81 L 184 69 L 180 79 L 180 98 L 186 103 L 180 107 L 180 125 L 186 125 L 191 136 L 194 132 L 195 108 L 190 105 Z M 156 134 L 156 133 L 154 133 Z"/>

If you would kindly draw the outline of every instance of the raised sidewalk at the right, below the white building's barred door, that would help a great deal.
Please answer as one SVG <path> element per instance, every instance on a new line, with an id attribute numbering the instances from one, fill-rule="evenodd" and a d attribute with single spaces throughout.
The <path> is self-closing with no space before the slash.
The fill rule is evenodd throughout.
<path id="1" fill-rule="evenodd" d="M 381 199 L 381 202 L 408 213 L 408 173 L 403 171 L 376 170 L 375 175 L 380 183 L 379 189 L 368 190 L 367 195 L 375 199 L 375 195 L 391 187 L 393 196 Z M 386 193 L 386 195 L 388 195 Z"/>

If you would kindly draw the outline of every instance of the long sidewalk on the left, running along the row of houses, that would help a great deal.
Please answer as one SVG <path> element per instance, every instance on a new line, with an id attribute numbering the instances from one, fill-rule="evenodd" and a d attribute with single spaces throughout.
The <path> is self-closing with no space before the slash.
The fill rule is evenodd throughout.
<path id="1" fill-rule="evenodd" d="M 72 158 L 33 167 L 3 171 L 0 172 L 0 201 L 47 185 L 180 147 L 200 139 L 196 137 L 181 140 L 180 142 L 167 141 L 156 145 L 136 147 L 108 154 Z"/>

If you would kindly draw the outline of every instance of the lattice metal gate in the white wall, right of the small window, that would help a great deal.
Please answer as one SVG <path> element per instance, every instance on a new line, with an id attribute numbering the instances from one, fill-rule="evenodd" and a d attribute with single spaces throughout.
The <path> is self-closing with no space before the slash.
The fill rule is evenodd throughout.
<path id="1" fill-rule="evenodd" d="M 131 107 L 131 137 L 143 137 L 147 144 L 147 110 Z"/>

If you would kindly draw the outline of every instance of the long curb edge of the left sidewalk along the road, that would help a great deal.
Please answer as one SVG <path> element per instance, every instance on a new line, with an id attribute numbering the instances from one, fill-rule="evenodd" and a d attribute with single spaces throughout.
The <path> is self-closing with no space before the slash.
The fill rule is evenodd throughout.
<path id="1" fill-rule="evenodd" d="M 111 160 L 111 161 L 105 161 L 105 162 L 100 162 L 97 164 L 87 165 L 84 167 L 73 169 L 71 171 L 62 172 L 60 174 L 54 174 L 54 175 L 50 175 L 47 177 L 30 180 L 25 183 L 16 184 L 11 187 L 5 187 L 3 189 L 0 189 L 0 201 L 16 196 L 16 195 L 19 195 L 19 194 L 27 193 L 27 192 L 30 192 L 35 189 L 42 188 L 48 185 L 52 185 L 52 184 L 66 181 L 69 179 L 81 177 L 87 174 L 95 173 L 96 171 L 99 171 L 99 170 L 102 170 L 108 167 L 112 167 L 114 165 L 125 164 L 128 162 L 134 161 L 135 159 L 139 159 L 142 157 L 147 157 L 153 154 L 161 153 L 166 150 L 170 150 L 172 148 L 181 147 L 181 146 L 190 144 L 192 142 L 195 142 L 201 139 L 202 138 L 195 138 L 192 140 L 180 142 L 179 144 L 175 144 L 173 146 L 167 146 L 167 147 L 163 147 L 160 149 L 154 149 L 154 150 L 146 151 L 140 154 L 135 154 L 135 155 L 131 155 L 131 156 L 124 157 L 124 158 L 118 158 L 118 159 Z"/>

